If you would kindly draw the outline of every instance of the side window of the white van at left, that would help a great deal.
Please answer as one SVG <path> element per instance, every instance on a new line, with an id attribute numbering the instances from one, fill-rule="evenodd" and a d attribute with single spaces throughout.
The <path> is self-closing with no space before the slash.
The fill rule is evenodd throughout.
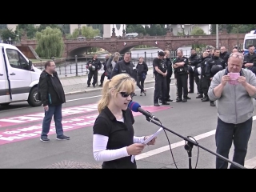
<path id="1" fill-rule="evenodd" d="M 26 59 L 18 52 L 18 50 L 6 49 L 7 58 L 9 60 L 10 66 L 22 70 L 26 70 L 28 62 Z"/>

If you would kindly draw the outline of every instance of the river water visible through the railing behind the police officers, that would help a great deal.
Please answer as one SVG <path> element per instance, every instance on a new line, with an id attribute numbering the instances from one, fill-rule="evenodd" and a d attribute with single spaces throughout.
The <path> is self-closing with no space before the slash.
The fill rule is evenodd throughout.
<path id="1" fill-rule="evenodd" d="M 136 65 L 138 63 L 138 58 L 143 57 L 144 61 L 149 67 L 152 67 L 152 61 L 154 58 L 158 57 L 158 51 L 162 51 L 159 48 L 153 49 L 137 49 L 137 50 L 130 50 L 132 62 Z M 184 50 L 183 50 L 184 52 Z M 187 54 L 187 51 L 184 52 L 184 55 Z M 98 58 L 101 62 L 104 61 L 106 54 L 98 54 Z M 190 55 L 187 55 L 188 57 Z M 170 53 L 170 57 L 174 57 L 174 53 Z M 66 62 L 58 63 L 56 66 L 56 71 L 58 72 L 58 76 L 60 78 L 65 77 L 74 77 L 80 75 L 86 75 L 88 70 L 86 69 L 86 63 L 90 60 L 90 58 L 78 58 L 78 62 L 76 64 L 74 59 L 68 59 Z M 38 69 L 42 70 L 44 66 L 36 66 Z M 102 66 L 103 67 L 103 66 Z M 103 69 L 99 72 L 102 74 Z"/>

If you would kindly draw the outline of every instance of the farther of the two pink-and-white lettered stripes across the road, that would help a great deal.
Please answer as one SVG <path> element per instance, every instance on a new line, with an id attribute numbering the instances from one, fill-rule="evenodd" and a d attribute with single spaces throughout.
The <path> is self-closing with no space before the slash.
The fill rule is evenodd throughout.
<path id="1" fill-rule="evenodd" d="M 91 111 L 97 111 L 97 110 L 98 110 L 98 104 L 67 107 L 62 109 L 62 116 L 66 117 L 72 114 L 88 114 Z M 42 118 L 44 116 L 45 116 L 45 113 L 42 112 L 38 114 L 25 114 L 25 115 L 15 116 L 11 118 L 2 118 L 0 119 L 0 128 L 5 126 L 20 125 L 27 122 L 39 122 L 39 121 L 42 121 Z"/>

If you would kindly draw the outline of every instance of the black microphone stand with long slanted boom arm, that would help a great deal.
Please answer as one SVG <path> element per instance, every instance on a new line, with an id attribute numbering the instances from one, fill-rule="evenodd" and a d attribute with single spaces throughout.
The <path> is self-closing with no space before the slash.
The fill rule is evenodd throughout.
<path id="1" fill-rule="evenodd" d="M 145 114 L 144 114 L 144 115 L 145 115 Z M 206 150 L 206 151 L 209 152 L 210 154 L 214 154 L 214 155 L 217 156 L 218 158 L 221 158 L 221 159 L 224 160 L 225 162 L 230 162 L 233 166 L 236 166 L 237 168 L 246 169 L 246 167 L 241 166 L 241 165 L 238 164 L 237 162 L 232 162 L 232 161 L 230 161 L 230 159 L 224 158 L 222 155 L 216 154 L 216 153 L 214 153 L 213 151 L 208 150 L 208 149 L 206 149 L 206 148 L 203 147 L 203 146 L 200 146 L 197 142 L 194 142 L 194 141 L 191 140 L 190 138 L 183 137 L 181 134 L 177 134 L 177 133 L 175 133 L 173 130 L 170 130 L 170 129 L 166 128 L 165 126 L 162 126 L 162 124 L 160 124 L 159 122 L 154 121 L 154 119 L 153 119 L 153 118 L 150 118 L 150 116 L 148 116 L 148 115 L 145 115 L 145 116 L 146 116 L 146 120 L 147 120 L 148 122 L 153 122 L 155 125 L 162 127 L 162 129 L 168 130 L 170 133 L 175 134 L 175 135 L 177 135 L 178 137 L 183 138 L 183 139 L 185 140 L 186 145 L 184 146 L 184 148 L 185 148 L 185 150 L 187 151 L 187 154 L 188 154 L 188 156 L 189 156 L 189 169 L 192 169 L 191 158 L 192 158 L 192 149 L 193 149 L 193 146 L 198 146 L 198 147 L 200 147 L 201 149 Z"/>

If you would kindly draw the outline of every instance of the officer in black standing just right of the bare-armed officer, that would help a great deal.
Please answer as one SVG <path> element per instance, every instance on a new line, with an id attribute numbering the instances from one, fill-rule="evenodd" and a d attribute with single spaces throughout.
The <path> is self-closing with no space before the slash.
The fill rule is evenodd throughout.
<path id="1" fill-rule="evenodd" d="M 194 82 L 198 86 L 199 84 L 199 77 L 198 75 L 194 75 L 194 69 L 198 66 L 198 64 L 201 62 L 200 58 L 198 57 L 198 54 L 196 50 L 191 49 L 191 55 L 189 58 L 189 72 L 190 72 L 190 90 L 189 93 L 194 93 Z M 198 90 L 199 92 L 199 90 Z"/>

